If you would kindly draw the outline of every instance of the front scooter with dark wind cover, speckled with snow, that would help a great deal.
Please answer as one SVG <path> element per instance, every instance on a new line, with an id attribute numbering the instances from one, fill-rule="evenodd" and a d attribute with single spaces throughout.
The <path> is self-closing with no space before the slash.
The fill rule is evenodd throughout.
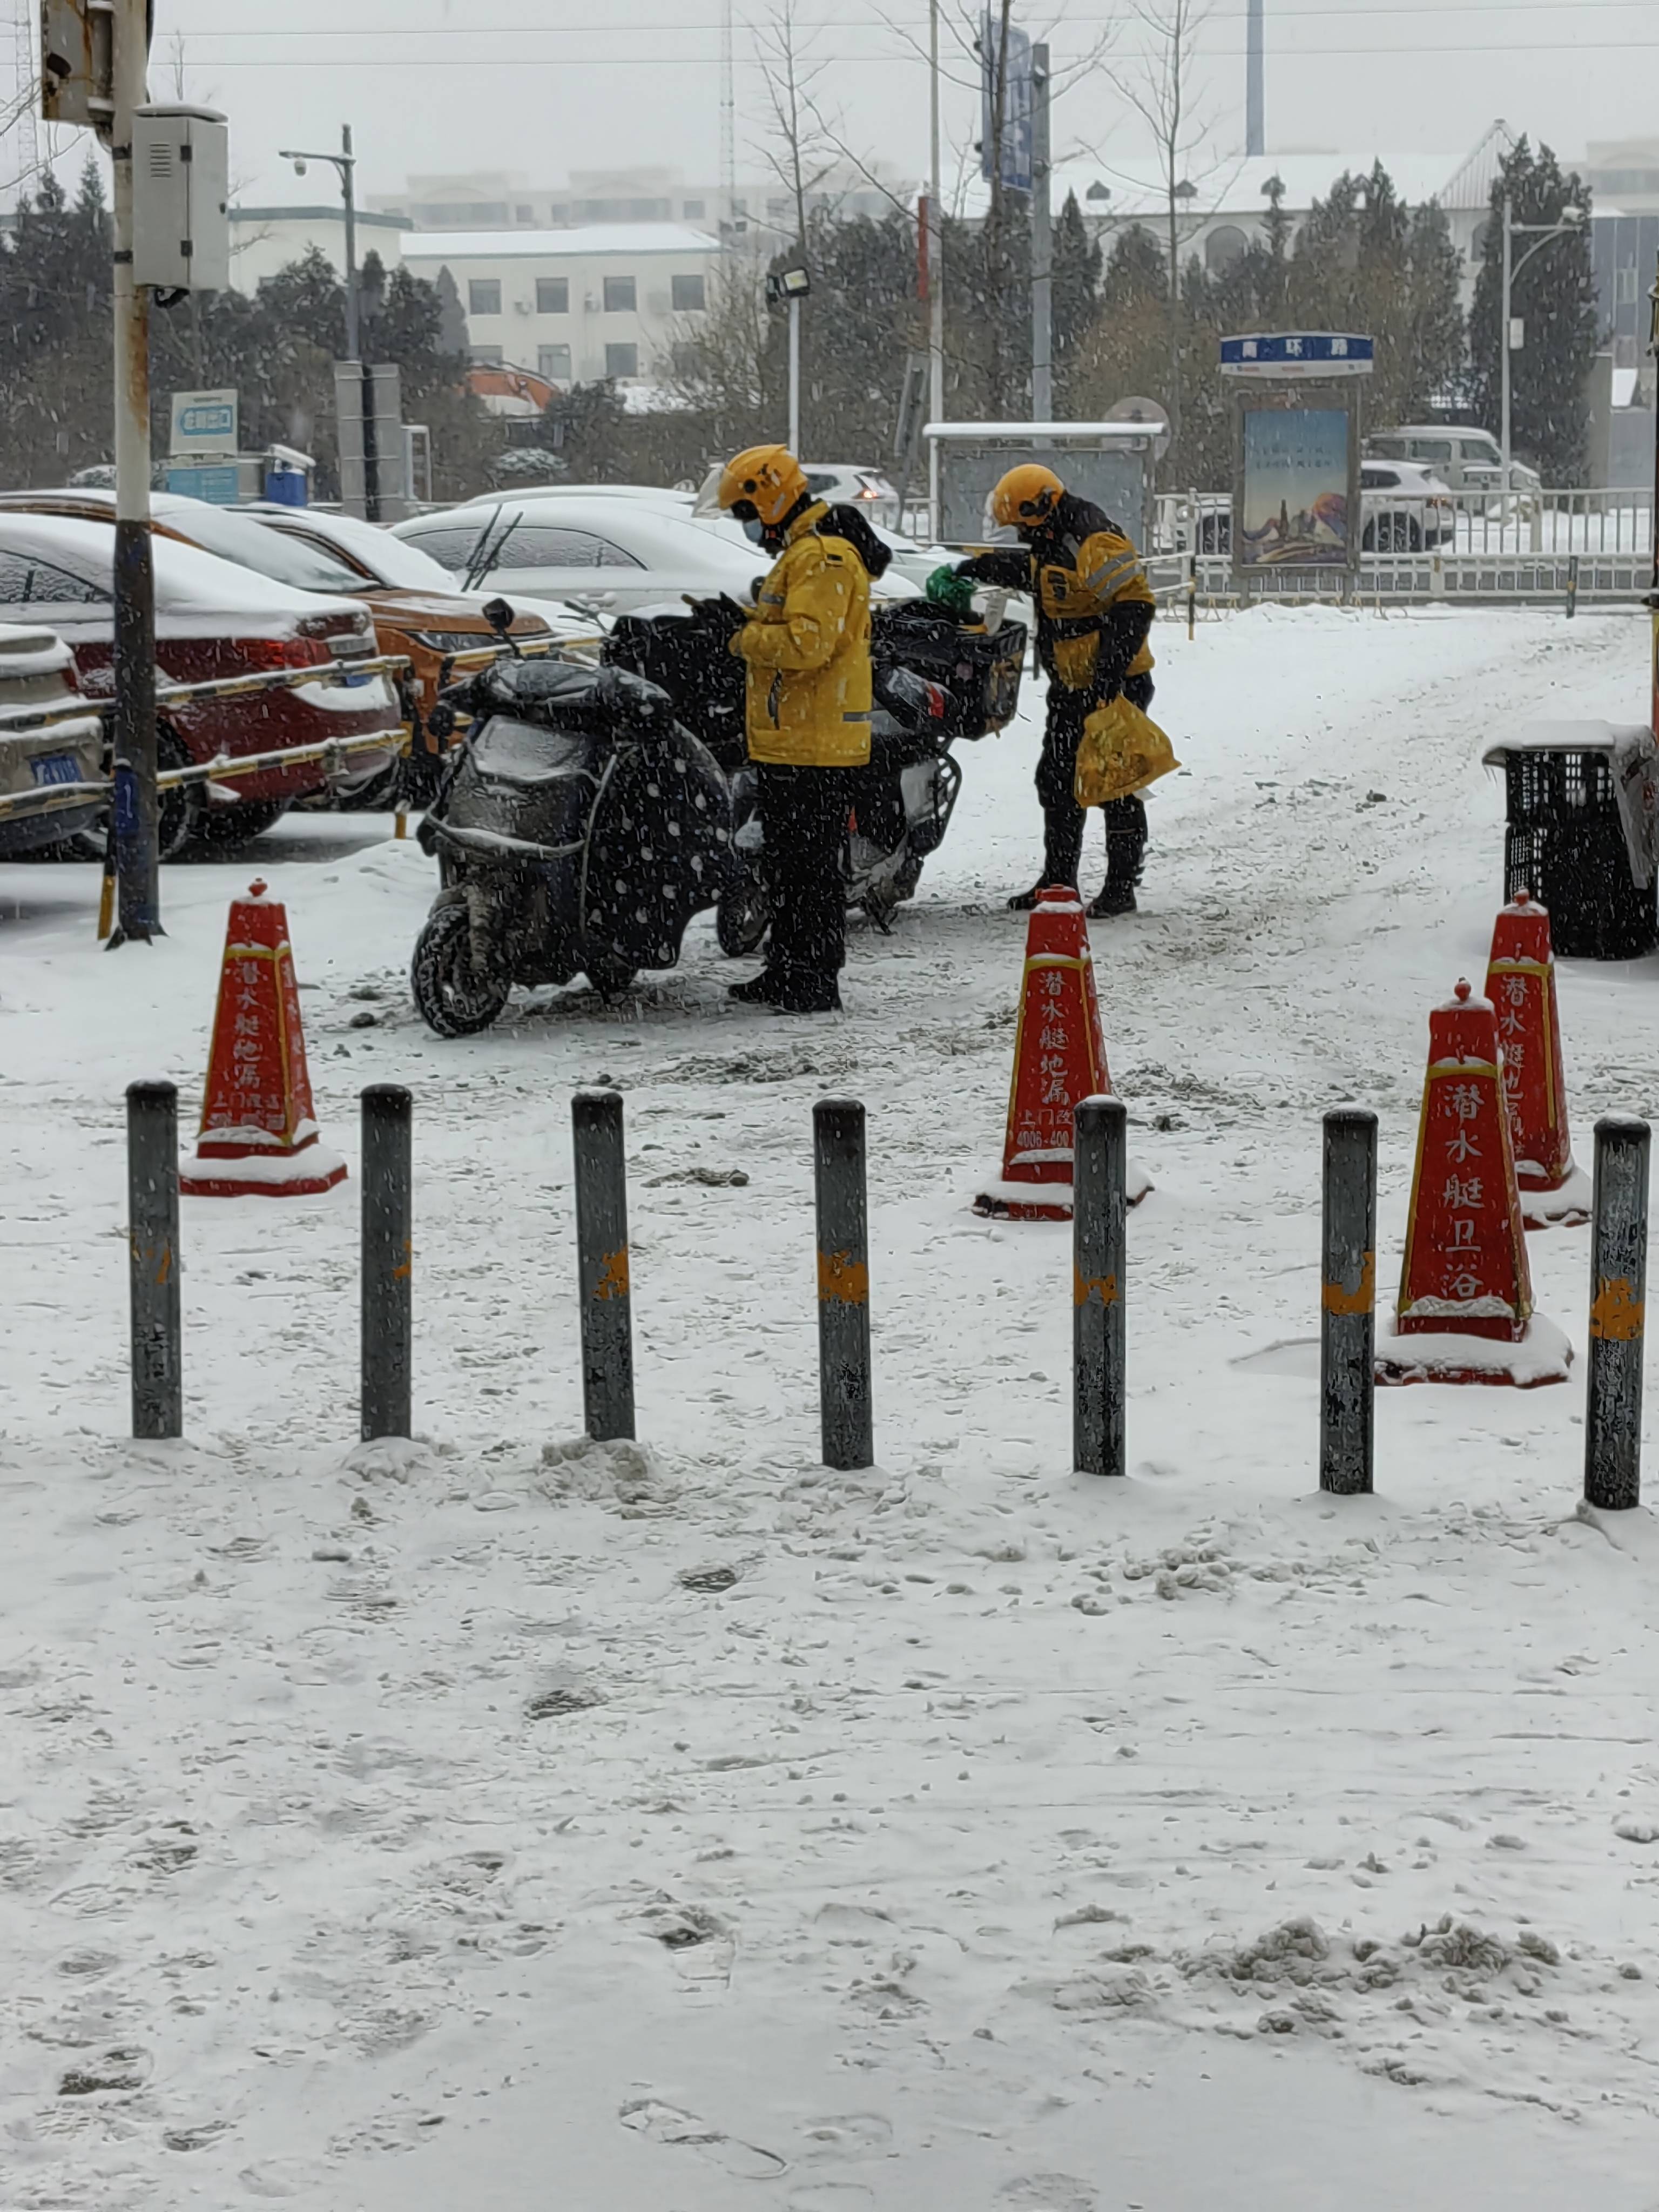
<path id="1" fill-rule="evenodd" d="M 728 887 L 732 807 L 666 692 L 622 668 L 502 659 L 445 710 L 473 723 L 418 830 L 442 872 L 409 973 L 431 1029 L 489 1029 L 515 982 L 586 975 L 617 998 L 639 969 L 675 967 Z"/>

